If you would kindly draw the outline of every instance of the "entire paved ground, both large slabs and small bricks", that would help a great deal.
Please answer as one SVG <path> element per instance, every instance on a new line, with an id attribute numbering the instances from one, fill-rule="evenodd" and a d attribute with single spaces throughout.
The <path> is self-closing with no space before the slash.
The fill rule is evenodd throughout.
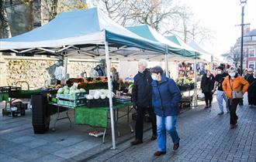
<path id="1" fill-rule="evenodd" d="M 1 114 L 0 161 L 256 161 L 256 107 L 239 106 L 237 112 L 235 130 L 229 129 L 229 114 L 217 115 L 216 103 L 211 112 L 199 106 L 182 113 L 178 116 L 181 147 L 172 151 L 168 137 L 168 153 L 162 157 L 153 156 L 157 142 L 150 141 L 149 123 L 145 123 L 144 143 L 130 146 L 134 133 L 123 118 L 119 124 L 121 137 L 116 137 L 117 149 L 110 150 L 110 131 L 106 143 L 88 136 L 95 128 L 75 125 L 73 110 L 69 112 L 71 128 L 68 120 L 61 120 L 55 131 L 45 134 L 33 133 L 30 110 L 26 110 L 26 116 L 14 119 Z M 55 117 L 51 117 L 51 126 Z"/>

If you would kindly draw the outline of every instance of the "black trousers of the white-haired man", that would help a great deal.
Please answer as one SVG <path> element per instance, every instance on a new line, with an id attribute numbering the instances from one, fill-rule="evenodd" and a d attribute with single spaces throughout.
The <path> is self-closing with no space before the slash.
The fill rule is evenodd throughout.
<path id="1" fill-rule="evenodd" d="M 135 125 L 135 137 L 136 139 L 143 140 L 143 130 L 144 130 L 144 116 L 148 112 L 151 124 L 152 124 L 152 133 L 157 135 L 157 119 L 154 113 L 153 107 L 141 107 L 137 106 L 137 120 Z"/>

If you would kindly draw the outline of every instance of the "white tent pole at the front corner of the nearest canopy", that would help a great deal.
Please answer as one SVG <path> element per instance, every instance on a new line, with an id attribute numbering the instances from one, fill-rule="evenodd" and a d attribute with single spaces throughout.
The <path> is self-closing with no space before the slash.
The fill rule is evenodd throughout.
<path id="1" fill-rule="evenodd" d="M 109 87 L 109 109 L 110 109 L 110 120 L 111 120 L 111 132 L 112 132 L 112 149 L 116 149 L 116 137 L 115 137 L 115 124 L 112 108 L 112 83 L 110 79 L 110 61 L 109 61 L 109 43 L 105 42 L 105 52 L 106 52 L 106 73 L 108 77 L 108 87 Z"/>

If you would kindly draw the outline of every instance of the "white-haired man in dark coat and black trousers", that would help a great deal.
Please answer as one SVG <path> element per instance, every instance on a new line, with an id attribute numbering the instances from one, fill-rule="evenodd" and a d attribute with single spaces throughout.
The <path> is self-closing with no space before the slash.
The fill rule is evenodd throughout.
<path id="1" fill-rule="evenodd" d="M 133 107 L 137 107 L 137 120 L 135 125 L 135 140 L 132 145 L 143 143 L 144 116 L 148 112 L 152 124 L 151 140 L 157 139 L 156 116 L 152 107 L 152 78 L 147 69 L 147 60 L 140 59 L 138 62 L 139 72 L 134 76 L 132 89 Z"/>

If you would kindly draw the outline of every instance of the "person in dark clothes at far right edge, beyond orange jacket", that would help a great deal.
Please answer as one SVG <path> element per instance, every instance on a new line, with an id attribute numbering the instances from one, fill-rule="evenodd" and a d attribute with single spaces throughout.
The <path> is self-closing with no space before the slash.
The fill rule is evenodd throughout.
<path id="1" fill-rule="evenodd" d="M 248 73 L 250 70 L 252 69 L 248 69 Z M 256 106 L 256 70 L 254 71 L 253 75 L 248 76 L 247 81 L 250 83 L 247 93 L 248 103 L 250 106 Z"/>

